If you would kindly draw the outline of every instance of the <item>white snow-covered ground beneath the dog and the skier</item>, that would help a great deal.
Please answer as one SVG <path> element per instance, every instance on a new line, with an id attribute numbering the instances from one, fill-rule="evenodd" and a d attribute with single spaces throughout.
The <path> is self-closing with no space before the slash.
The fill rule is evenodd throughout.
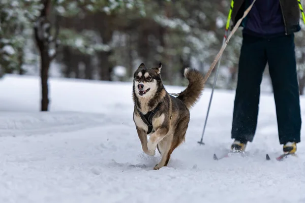
<path id="1" fill-rule="evenodd" d="M 273 95 L 261 95 L 257 134 L 246 158 L 229 148 L 234 92 L 216 91 L 199 146 L 210 90 L 191 110 L 186 143 L 168 167 L 141 151 L 131 83 L 51 79 L 50 112 L 39 112 L 40 80 L 0 80 L 0 202 L 305 202 L 305 144 L 279 155 Z M 185 87 L 168 87 L 179 92 Z M 301 98 L 305 118 L 305 98 Z M 302 127 L 302 141 L 305 127 Z"/>

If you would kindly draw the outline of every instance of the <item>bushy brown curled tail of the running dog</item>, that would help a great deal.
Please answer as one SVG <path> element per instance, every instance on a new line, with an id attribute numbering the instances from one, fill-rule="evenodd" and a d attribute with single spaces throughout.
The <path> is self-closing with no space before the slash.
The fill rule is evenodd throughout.
<path id="1" fill-rule="evenodd" d="M 204 88 L 204 81 L 203 76 L 199 71 L 189 67 L 185 69 L 184 76 L 189 80 L 189 85 L 179 94 L 179 96 L 177 96 L 177 98 L 182 100 L 187 108 L 190 109 L 201 96 Z"/>

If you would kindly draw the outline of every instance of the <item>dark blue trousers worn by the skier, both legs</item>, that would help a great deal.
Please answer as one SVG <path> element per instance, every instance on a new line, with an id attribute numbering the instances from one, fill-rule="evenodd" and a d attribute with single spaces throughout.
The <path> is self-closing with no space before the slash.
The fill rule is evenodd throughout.
<path id="1" fill-rule="evenodd" d="M 294 35 L 259 38 L 243 34 L 234 101 L 232 139 L 253 141 L 260 84 L 268 62 L 280 144 L 300 142 L 301 115 Z"/>

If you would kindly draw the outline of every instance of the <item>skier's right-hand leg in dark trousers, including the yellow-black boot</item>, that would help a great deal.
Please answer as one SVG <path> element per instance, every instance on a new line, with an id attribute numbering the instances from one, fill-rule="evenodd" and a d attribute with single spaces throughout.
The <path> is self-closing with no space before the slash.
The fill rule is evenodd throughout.
<path id="1" fill-rule="evenodd" d="M 300 142 L 301 129 L 294 47 L 294 35 L 272 38 L 267 45 L 280 144 L 284 144 L 284 151 L 291 152 L 296 150 L 296 143 Z"/>

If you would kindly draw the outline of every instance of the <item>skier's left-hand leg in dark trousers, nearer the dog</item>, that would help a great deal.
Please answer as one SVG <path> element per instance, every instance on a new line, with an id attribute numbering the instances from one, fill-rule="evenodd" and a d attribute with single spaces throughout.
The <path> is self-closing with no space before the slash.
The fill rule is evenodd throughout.
<path id="1" fill-rule="evenodd" d="M 245 146 L 238 141 L 252 142 L 256 131 L 260 84 L 267 62 L 265 46 L 265 39 L 243 35 L 231 131 L 237 141 L 234 144 L 241 148 Z"/>

